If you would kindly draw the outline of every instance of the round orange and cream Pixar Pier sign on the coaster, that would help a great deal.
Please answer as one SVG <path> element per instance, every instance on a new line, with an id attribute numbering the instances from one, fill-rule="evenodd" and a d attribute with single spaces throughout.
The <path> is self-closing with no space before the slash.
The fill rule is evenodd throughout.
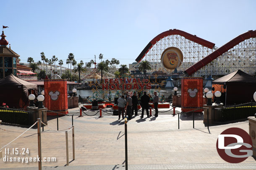
<path id="1" fill-rule="evenodd" d="M 161 61 L 166 69 L 174 70 L 183 62 L 183 54 L 179 48 L 169 47 L 162 53 Z"/>

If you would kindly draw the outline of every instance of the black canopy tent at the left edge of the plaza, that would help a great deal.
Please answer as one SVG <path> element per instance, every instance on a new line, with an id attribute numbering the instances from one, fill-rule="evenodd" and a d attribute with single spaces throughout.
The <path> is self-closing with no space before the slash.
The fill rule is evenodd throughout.
<path id="1" fill-rule="evenodd" d="M 0 79 L 0 105 L 6 103 L 10 108 L 26 108 L 29 94 L 37 97 L 37 84 L 27 82 L 10 74 Z"/>

